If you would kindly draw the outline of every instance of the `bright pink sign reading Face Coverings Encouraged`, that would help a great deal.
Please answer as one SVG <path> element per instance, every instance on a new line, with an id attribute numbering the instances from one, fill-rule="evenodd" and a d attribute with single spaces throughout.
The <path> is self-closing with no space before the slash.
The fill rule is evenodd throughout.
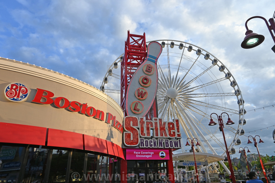
<path id="1" fill-rule="evenodd" d="M 126 150 L 127 160 L 139 160 L 139 159 L 169 159 L 169 150 L 147 150 L 147 149 L 127 149 Z"/>

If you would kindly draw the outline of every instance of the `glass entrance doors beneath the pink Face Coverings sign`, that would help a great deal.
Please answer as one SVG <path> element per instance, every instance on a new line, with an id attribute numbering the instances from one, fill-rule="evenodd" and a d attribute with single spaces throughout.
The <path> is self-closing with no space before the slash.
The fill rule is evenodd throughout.
<path id="1" fill-rule="evenodd" d="M 130 175 L 128 183 L 136 181 L 152 183 L 167 178 L 165 160 L 128 160 L 127 173 Z"/>

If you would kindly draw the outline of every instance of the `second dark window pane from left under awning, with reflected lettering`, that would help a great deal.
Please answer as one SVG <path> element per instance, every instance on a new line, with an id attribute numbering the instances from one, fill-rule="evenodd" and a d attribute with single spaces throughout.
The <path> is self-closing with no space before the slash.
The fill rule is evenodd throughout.
<path id="1" fill-rule="evenodd" d="M 29 148 L 23 183 L 44 181 L 49 149 Z"/>

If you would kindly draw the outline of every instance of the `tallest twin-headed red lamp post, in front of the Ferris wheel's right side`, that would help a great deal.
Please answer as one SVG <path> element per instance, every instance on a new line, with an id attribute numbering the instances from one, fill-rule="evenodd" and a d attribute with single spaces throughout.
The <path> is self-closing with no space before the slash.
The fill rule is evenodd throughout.
<path id="1" fill-rule="evenodd" d="M 216 113 L 212 113 L 212 114 L 216 114 Z M 223 121 L 222 121 L 222 114 L 227 114 L 227 113 L 226 112 L 222 112 L 221 116 L 218 116 L 218 114 L 216 114 L 216 115 L 217 115 L 218 121 L 219 121 L 219 129 L 222 132 L 222 135 L 224 137 L 224 145 L 225 145 L 225 148 L 226 148 L 226 156 L 227 156 L 227 159 L 228 159 L 228 164 L 229 164 L 230 173 L 231 173 L 231 177 L 232 177 L 232 183 L 236 183 L 233 166 L 232 166 L 232 162 L 231 162 L 231 159 L 230 159 L 230 154 L 229 154 L 229 151 L 228 151 L 228 148 L 227 148 L 227 144 L 226 144 L 226 139 L 225 139 L 225 136 L 224 136 L 224 130 L 223 130 L 224 124 L 223 124 Z M 210 115 L 210 118 L 211 118 L 211 115 Z M 229 118 L 228 114 L 227 114 L 227 116 L 228 116 L 228 121 L 226 122 L 226 125 L 232 125 L 232 124 L 234 124 L 234 122 Z M 213 125 L 216 125 L 216 124 L 217 123 L 215 123 L 213 121 L 213 119 L 211 118 L 208 125 L 209 126 L 213 126 Z"/>

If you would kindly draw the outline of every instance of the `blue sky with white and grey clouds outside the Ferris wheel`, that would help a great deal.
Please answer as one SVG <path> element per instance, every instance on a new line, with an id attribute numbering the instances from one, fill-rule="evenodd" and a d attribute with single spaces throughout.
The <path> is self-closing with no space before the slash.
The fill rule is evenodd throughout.
<path id="1" fill-rule="evenodd" d="M 100 88 L 109 66 L 123 53 L 127 30 L 145 32 L 146 41 L 197 45 L 215 55 L 235 77 L 248 111 L 245 135 L 259 135 L 265 141 L 258 145 L 260 154 L 274 156 L 275 53 L 262 19 L 250 20 L 248 28 L 264 35 L 265 41 L 253 49 L 240 46 L 246 20 L 272 18 L 274 7 L 272 0 L 1 1 L 0 57 L 52 69 Z M 246 144 L 247 137 L 240 140 L 237 152 L 247 146 L 257 153 Z"/>

